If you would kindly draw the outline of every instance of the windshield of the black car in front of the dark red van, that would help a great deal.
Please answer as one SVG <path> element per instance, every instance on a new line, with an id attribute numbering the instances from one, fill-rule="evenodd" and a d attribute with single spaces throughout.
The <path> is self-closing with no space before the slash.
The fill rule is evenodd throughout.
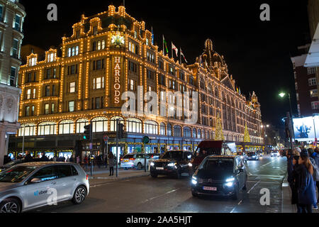
<path id="1" fill-rule="evenodd" d="M 234 161 L 233 159 L 208 159 L 201 164 L 199 170 L 208 171 L 229 171 L 233 170 Z"/>

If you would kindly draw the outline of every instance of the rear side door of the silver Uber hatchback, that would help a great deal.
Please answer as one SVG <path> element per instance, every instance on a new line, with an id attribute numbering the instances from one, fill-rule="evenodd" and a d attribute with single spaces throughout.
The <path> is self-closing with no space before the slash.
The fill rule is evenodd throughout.
<path id="1" fill-rule="evenodd" d="M 57 201 L 72 198 L 77 178 L 72 175 L 71 165 L 57 165 Z"/>

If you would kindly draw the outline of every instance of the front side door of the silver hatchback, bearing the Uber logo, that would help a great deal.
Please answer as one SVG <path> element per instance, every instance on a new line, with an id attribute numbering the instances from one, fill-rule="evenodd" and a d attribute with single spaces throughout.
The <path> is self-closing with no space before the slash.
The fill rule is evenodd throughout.
<path id="1" fill-rule="evenodd" d="M 31 183 L 38 178 L 40 182 Z M 56 189 L 57 172 L 55 166 L 43 167 L 35 172 L 26 182 L 26 209 L 48 205 L 50 189 Z"/>

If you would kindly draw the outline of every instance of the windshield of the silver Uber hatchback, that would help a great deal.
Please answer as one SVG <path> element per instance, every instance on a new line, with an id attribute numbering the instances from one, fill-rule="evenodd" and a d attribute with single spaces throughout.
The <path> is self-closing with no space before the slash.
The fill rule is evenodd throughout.
<path id="1" fill-rule="evenodd" d="M 31 172 L 37 167 L 33 166 L 16 166 L 11 167 L 9 170 L 0 172 L 0 182 L 18 183 L 26 179 Z"/>

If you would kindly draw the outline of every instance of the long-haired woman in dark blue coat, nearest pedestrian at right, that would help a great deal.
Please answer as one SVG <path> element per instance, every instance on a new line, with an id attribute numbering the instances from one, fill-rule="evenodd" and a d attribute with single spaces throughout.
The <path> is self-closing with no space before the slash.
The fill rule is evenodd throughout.
<path id="1" fill-rule="evenodd" d="M 317 204 L 315 183 L 313 181 L 313 166 L 311 165 L 307 150 L 301 152 L 298 164 L 301 166 L 298 187 L 299 213 L 313 213 L 312 206 Z"/>

